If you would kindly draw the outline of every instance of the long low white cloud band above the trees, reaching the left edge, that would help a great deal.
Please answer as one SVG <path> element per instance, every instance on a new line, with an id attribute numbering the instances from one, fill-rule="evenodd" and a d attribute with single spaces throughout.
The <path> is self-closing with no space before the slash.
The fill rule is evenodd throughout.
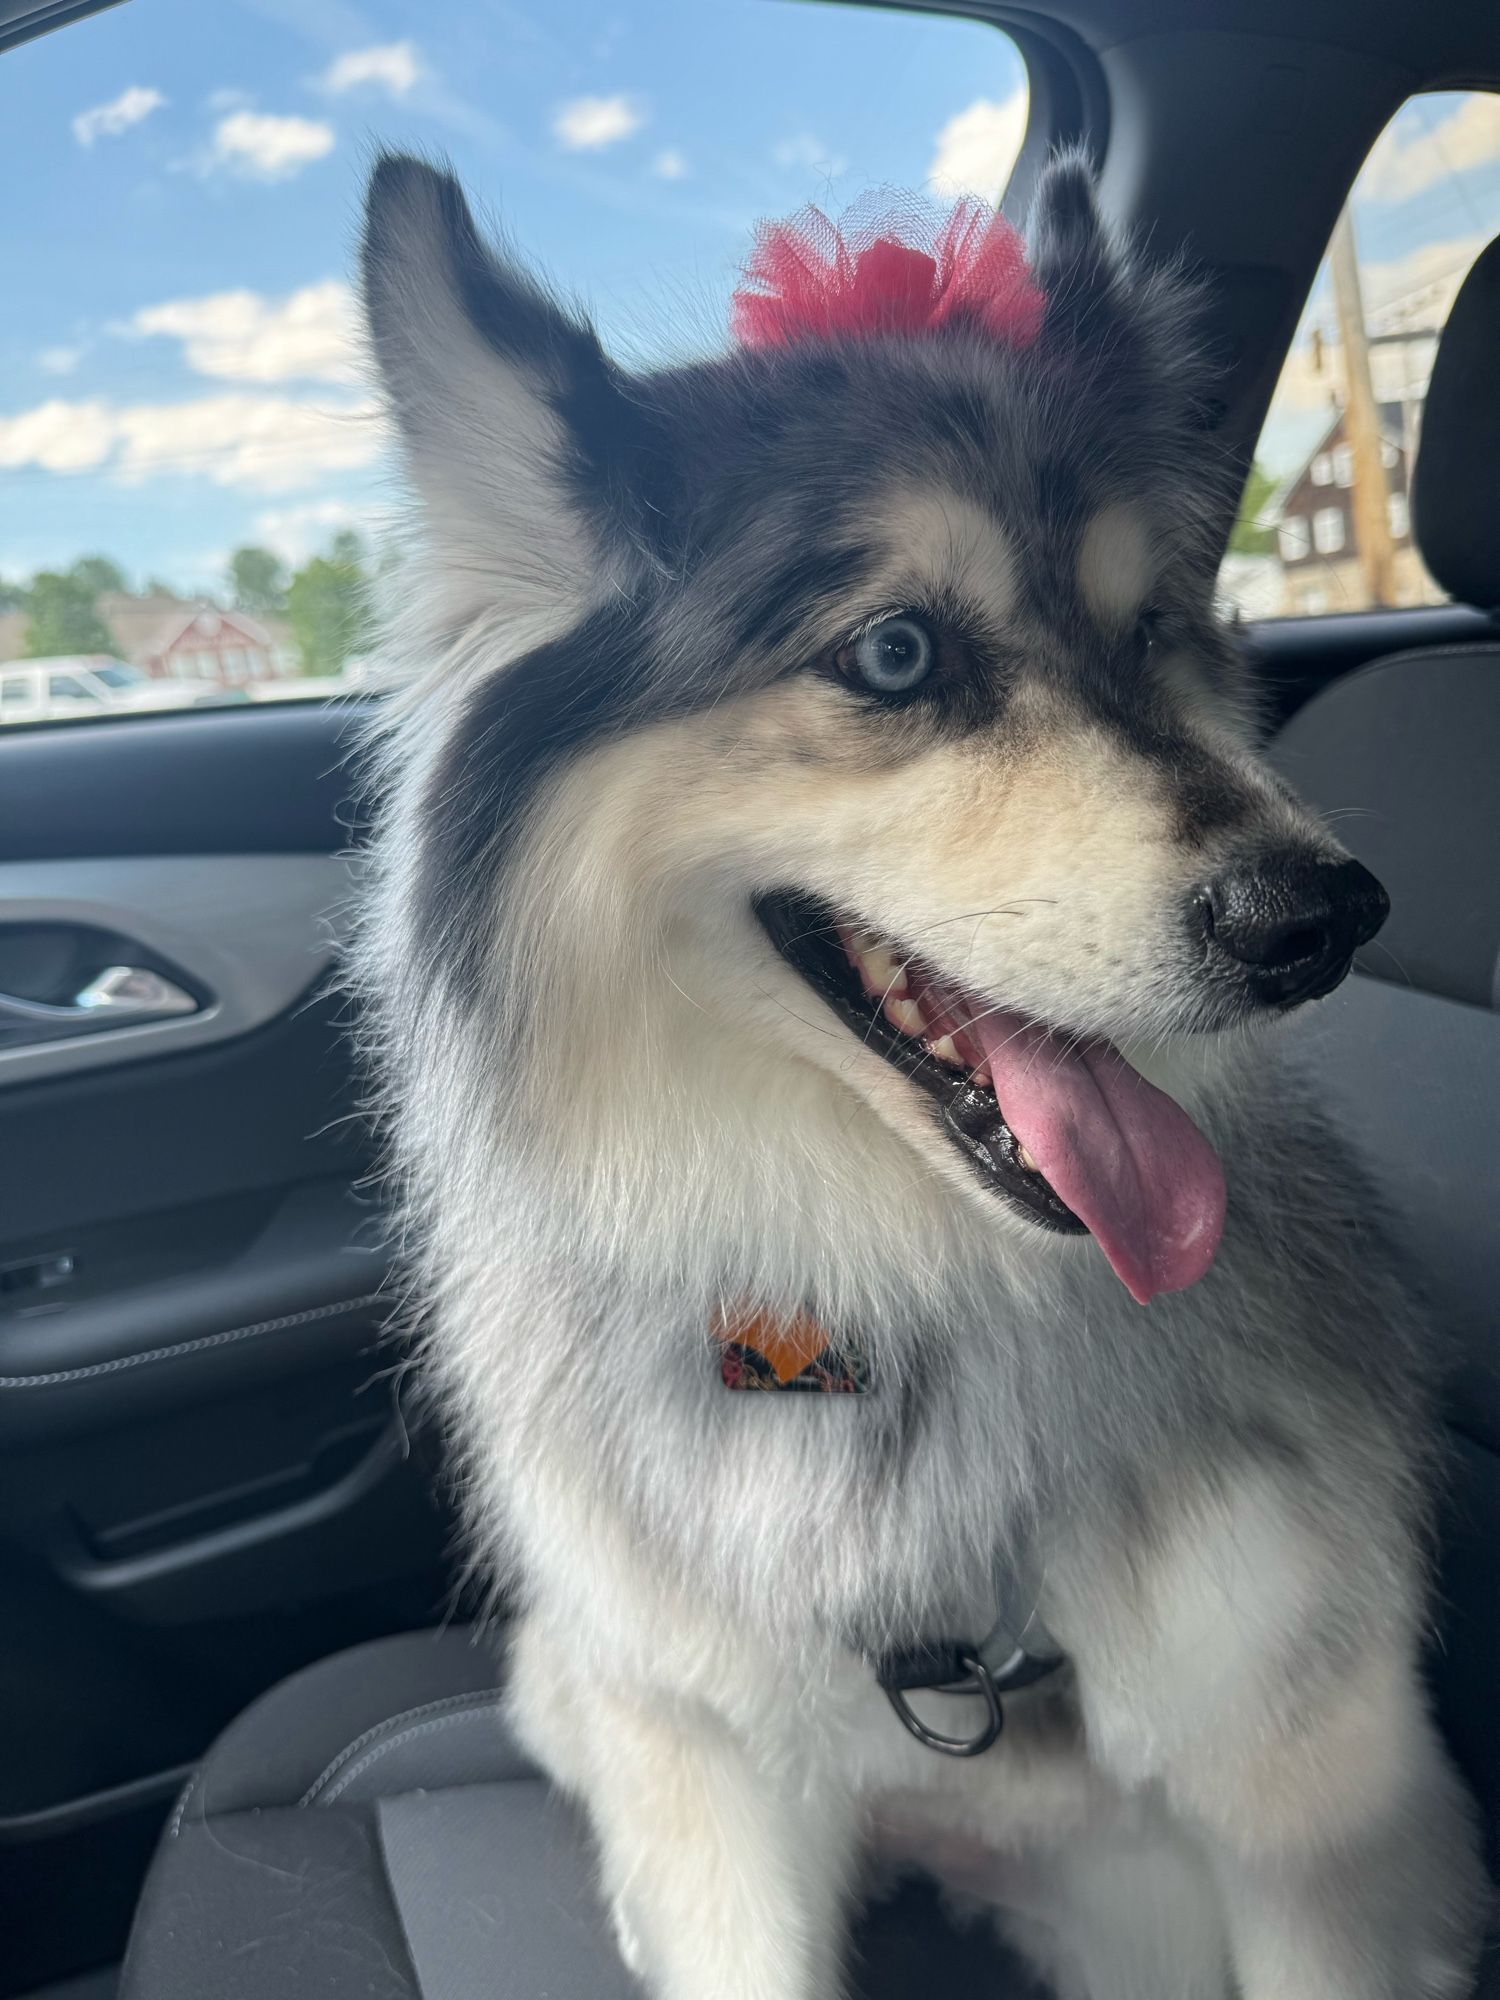
<path id="1" fill-rule="evenodd" d="M 56 398 L 0 416 L 0 468 L 106 472 L 126 486 L 176 472 L 214 486 L 294 492 L 328 472 L 372 464 L 382 446 L 374 404 L 246 392 L 160 404 Z"/>

